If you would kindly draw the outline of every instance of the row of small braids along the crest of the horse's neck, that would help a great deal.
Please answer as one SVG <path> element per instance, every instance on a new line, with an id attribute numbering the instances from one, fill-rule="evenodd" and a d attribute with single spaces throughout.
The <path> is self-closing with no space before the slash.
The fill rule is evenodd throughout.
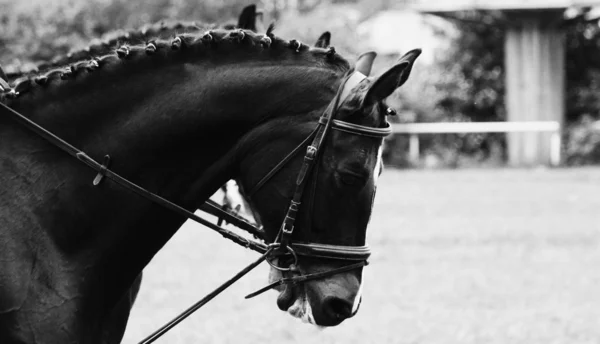
<path id="1" fill-rule="evenodd" d="M 66 66 L 24 75 L 14 80 L 12 88 L 0 90 L 0 101 L 14 99 L 26 94 L 33 87 L 48 87 L 57 80 L 75 79 L 78 75 L 93 73 L 96 70 L 106 69 L 110 65 L 127 64 L 136 60 L 148 58 L 169 58 L 189 54 L 202 54 L 208 51 L 230 51 L 231 49 L 245 49 L 255 53 L 265 50 L 292 50 L 294 54 L 311 53 L 322 61 L 322 65 L 333 65 L 340 70 L 348 68 L 348 62 L 334 51 L 310 47 L 296 40 L 286 41 L 273 34 L 272 26 L 268 35 L 257 34 L 250 30 L 215 29 L 204 33 L 184 33 L 172 36 L 171 39 L 159 38 L 144 44 L 125 44 L 102 55 L 95 55 L 81 61 L 71 62 Z M 204 54 L 203 54 L 204 55 Z"/>

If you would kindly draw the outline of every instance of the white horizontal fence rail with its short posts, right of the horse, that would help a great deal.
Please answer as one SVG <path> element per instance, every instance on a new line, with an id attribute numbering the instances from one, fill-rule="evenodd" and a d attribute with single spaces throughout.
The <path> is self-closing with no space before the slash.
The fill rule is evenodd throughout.
<path id="1" fill-rule="evenodd" d="M 600 123 L 598 123 L 600 127 Z M 550 164 L 560 164 L 561 126 L 555 121 L 541 122 L 443 122 L 392 124 L 394 134 L 409 135 L 409 157 L 417 161 L 420 155 L 420 134 L 463 134 L 463 133 L 522 133 L 547 132 L 550 137 Z"/>

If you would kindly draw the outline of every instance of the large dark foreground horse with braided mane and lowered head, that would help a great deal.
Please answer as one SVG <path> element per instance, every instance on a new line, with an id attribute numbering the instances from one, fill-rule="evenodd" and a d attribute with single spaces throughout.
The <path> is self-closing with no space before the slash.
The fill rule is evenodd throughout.
<path id="1" fill-rule="evenodd" d="M 3 113 L 25 115 L 0 116 L 0 342 L 120 340 L 107 327 L 124 328 L 129 308 L 119 305 L 186 218 L 110 179 L 92 183 L 88 164 L 106 154 L 101 171 L 110 164 L 188 211 L 237 180 L 267 242 L 312 252 L 275 257 L 271 279 L 335 272 L 282 284 L 278 307 L 320 326 L 351 318 L 364 264 L 339 268 L 353 247 L 368 257 L 389 132 L 384 100 L 419 54 L 371 78 L 363 74 L 373 54 L 351 68 L 334 49 L 284 40 L 272 27 L 266 35 L 212 30 L 0 82 L 2 109 L 10 109 Z M 28 130 L 29 121 L 83 149 L 77 158 L 87 163 Z M 297 154 L 315 138 L 304 158 Z M 308 154 L 315 145 L 318 156 Z M 314 169 L 302 171 L 310 192 L 302 195 L 294 177 L 309 161 Z M 293 267 L 282 269 L 290 259 Z"/>

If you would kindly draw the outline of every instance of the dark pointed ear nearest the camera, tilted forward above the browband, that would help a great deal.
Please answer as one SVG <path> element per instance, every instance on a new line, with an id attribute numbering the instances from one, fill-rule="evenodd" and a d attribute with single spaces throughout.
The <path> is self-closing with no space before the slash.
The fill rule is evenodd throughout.
<path id="1" fill-rule="evenodd" d="M 421 55 L 421 49 L 411 50 L 404 54 L 392 68 L 375 79 L 367 91 L 365 100 L 372 104 L 394 93 L 398 87 L 408 80 L 412 66 L 419 55 Z"/>

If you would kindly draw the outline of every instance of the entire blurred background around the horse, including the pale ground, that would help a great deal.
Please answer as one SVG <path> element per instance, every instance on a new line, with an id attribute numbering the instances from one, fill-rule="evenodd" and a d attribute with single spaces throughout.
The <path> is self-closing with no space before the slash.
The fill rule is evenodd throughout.
<path id="1" fill-rule="evenodd" d="M 274 293 L 242 299 L 262 267 L 165 343 L 600 342 L 600 1 L 0 0 L 0 63 L 26 71 L 160 20 L 235 24 L 252 3 L 286 39 L 375 50 L 374 73 L 424 50 L 389 99 L 363 305 L 302 325 Z M 252 257 L 186 224 L 146 269 L 126 342 Z"/>

